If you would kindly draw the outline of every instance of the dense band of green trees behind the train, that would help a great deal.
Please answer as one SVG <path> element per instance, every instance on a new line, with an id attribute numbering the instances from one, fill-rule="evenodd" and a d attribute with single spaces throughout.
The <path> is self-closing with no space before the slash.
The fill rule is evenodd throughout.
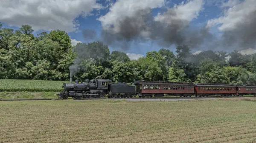
<path id="1" fill-rule="evenodd" d="M 256 84 L 256 54 L 207 50 L 197 55 L 186 45 L 147 52 L 130 60 L 120 51 L 110 53 L 101 42 L 71 46 L 64 31 L 32 34 L 29 25 L 20 30 L 0 25 L 0 79 L 68 81 L 69 67 L 76 64 L 74 78 L 102 78 L 120 82 L 136 80 L 200 83 Z M 227 58 L 229 57 L 229 58 Z"/>

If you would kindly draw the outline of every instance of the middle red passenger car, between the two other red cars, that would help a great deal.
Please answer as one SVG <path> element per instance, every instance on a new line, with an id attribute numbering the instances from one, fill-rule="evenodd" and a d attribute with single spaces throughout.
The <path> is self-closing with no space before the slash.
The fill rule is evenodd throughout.
<path id="1" fill-rule="evenodd" d="M 231 84 L 195 84 L 195 96 L 236 95 L 236 86 Z"/>

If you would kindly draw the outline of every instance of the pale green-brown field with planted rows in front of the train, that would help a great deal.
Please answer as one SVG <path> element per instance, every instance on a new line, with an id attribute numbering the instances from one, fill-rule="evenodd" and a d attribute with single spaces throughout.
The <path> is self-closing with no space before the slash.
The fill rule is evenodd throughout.
<path id="1" fill-rule="evenodd" d="M 0 142 L 251 143 L 255 101 L 0 101 Z"/>

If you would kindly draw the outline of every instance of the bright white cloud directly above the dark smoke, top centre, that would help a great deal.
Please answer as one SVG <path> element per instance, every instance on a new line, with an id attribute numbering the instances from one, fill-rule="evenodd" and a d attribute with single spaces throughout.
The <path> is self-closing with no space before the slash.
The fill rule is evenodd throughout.
<path id="1" fill-rule="evenodd" d="M 124 20 L 126 17 L 136 17 L 138 10 L 148 10 L 148 8 L 158 8 L 164 5 L 165 0 L 118 0 L 114 3 L 110 11 L 99 17 L 102 27 L 106 30 L 113 25 L 114 31 L 120 31 L 118 21 Z M 149 13 L 150 11 L 148 11 Z"/>

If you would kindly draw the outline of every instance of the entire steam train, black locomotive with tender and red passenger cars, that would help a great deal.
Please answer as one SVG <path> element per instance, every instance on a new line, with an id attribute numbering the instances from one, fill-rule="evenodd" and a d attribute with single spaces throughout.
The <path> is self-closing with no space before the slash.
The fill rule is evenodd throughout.
<path id="1" fill-rule="evenodd" d="M 95 79 L 79 83 L 64 83 L 63 91 L 59 98 L 132 98 L 139 97 L 163 97 L 164 95 L 180 97 L 204 97 L 212 95 L 242 96 L 255 95 L 256 85 L 232 85 L 232 84 L 200 84 L 172 81 L 135 81 L 134 85 L 126 83 L 111 83 L 110 79 Z"/>

